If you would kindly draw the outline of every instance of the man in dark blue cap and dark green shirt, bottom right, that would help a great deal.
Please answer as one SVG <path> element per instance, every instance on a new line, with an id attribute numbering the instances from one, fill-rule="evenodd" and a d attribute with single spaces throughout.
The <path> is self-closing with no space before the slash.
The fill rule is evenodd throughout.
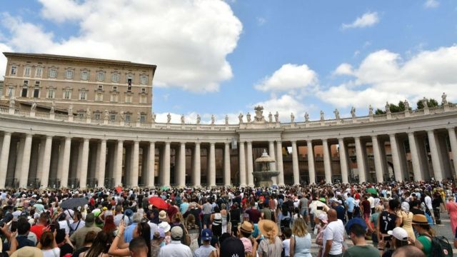
<path id="1" fill-rule="evenodd" d="M 379 252 L 373 246 L 368 246 L 365 241 L 365 229 L 360 224 L 353 224 L 349 228 L 349 237 L 354 244 L 353 247 L 348 248 L 344 251 L 343 257 L 366 257 L 366 256 L 378 256 Z"/>

